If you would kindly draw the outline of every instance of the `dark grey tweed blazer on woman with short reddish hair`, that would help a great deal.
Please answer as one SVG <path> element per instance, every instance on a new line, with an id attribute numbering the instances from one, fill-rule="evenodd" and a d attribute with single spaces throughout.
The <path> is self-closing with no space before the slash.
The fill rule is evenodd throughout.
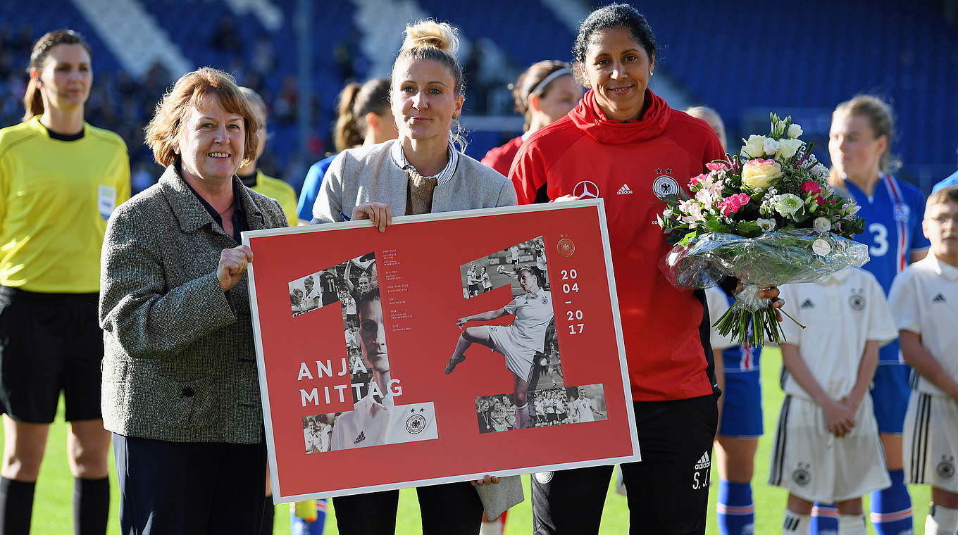
<path id="1" fill-rule="evenodd" d="M 273 199 L 239 184 L 239 202 L 250 230 L 286 226 Z M 107 430 L 172 442 L 262 440 L 247 279 L 224 294 L 216 276 L 220 251 L 236 246 L 174 166 L 113 212 L 100 276 Z"/>

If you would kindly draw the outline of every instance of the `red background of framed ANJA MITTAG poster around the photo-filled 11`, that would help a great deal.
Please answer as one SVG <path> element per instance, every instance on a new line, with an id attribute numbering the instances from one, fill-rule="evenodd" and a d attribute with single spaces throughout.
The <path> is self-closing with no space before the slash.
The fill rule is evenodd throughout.
<path id="1" fill-rule="evenodd" d="M 478 344 L 454 373 L 444 368 L 461 332 L 456 319 L 502 307 L 513 295 L 507 285 L 464 299 L 460 266 L 538 235 L 545 241 L 564 383 L 602 383 L 607 418 L 480 435 L 476 396 L 512 392 L 512 372 L 502 355 Z M 573 244 L 571 256 L 560 254 L 560 240 Z M 243 242 L 254 252 L 250 293 L 278 502 L 638 458 L 601 200 L 402 217 L 385 233 L 368 222 L 258 231 L 244 233 Z M 345 390 L 340 403 L 332 389 L 349 384 L 349 375 L 335 375 L 347 354 L 339 304 L 294 318 L 289 282 L 369 252 L 379 262 L 392 377 L 402 388 L 396 403 L 433 402 L 439 438 L 307 454 L 303 417 L 351 411 L 353 401 Z M 573 282 L 563 272 L 568 278 L 572 270 L 579 291 L 563 293 L 563 282 Z M 582 320 L 569 322 L 567 311 L 576 310 Z M 584 323 L 581 334 L 570 334 L 572 323 Z M 298 380 L 301 363 L 315 377 L 315 361 L 327 359 L 332 377 Z M 314 387 L 321 404 L 303 407 L 300 390 Z"/>

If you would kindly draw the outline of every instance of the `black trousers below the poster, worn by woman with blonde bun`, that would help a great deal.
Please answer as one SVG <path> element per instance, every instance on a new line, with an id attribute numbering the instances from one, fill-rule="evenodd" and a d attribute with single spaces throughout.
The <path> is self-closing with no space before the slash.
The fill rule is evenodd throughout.
<path id="1" fill-rule="evenodd" d="M 482 502 L 468 481 L 416 489 L 422 535 L 476 535 L 482 525 Z M 396 532 L 399 491 L 340 496 L 332 499 L 336 525 L 343 535 L 390 535 Z"/>

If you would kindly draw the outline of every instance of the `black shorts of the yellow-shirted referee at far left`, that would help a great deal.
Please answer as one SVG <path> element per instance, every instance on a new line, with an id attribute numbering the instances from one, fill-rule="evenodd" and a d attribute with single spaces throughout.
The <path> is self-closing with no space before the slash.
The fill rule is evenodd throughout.
<path id="1" fill-rule="evenodd" d="M 0 286 L 0 410 L 17 421 L 103 417 L 99 294 L 38 294 Z"/>

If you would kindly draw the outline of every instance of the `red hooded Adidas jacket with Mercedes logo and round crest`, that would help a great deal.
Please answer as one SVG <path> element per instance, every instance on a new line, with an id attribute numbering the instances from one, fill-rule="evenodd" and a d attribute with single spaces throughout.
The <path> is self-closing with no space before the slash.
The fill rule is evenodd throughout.
<path id="1" fill-rule="evenodd" d="M 573 194 L 602 197 L 635 401 L 712 393 L 698 327 L 701 303 L 658 269 L 671 246 L 653 225 L 661 195 L 688 191 L 689 179 L 724 156 L 709 125 L 673 110 L 646 90 L 640 121 L 605 118 L 591 91 L 556 123 L 521 146 L 510 178 L 520 204 Z"/>

